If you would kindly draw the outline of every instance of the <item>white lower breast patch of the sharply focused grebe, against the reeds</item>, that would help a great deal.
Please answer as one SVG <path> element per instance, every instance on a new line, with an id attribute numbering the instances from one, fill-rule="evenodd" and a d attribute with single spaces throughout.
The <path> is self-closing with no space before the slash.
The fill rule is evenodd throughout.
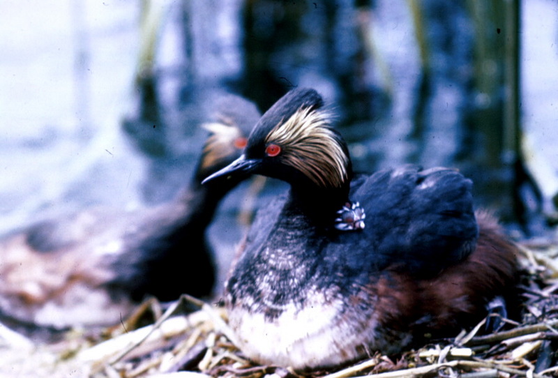
<path id="1" fill-rule="evenodd" d="M 247 306 L 229 303 L 229 325 L 248 358 L 294 369 L 338 365 L 363 358 L 370 350 L 395 351 L 410 341 L 407 333 L 386 335 L 374 310 L 359 311 L 363 301 L 370 307 L 377 298 L 364 291 L 342 298 L 333 289 L 314 287 L 303 305 L 282 305 L 280 315 L 272 319 L 265 310 L 248 310 L 252 300 Z"/>

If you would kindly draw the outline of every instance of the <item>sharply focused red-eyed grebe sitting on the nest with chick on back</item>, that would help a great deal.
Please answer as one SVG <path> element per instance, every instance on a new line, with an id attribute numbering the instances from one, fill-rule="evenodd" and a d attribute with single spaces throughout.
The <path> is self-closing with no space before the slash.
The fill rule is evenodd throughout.
<path id="1" fill-rule="evenodd" d="M 492 220 L 477 223 L 471 181 L 411 166 L 353 177 L 321 101 L 308 89 L 287 93 L 243 156 L 209 179 L 257 173 L 291 184 L 259 211 L 225 287 L 241 350 L 317 368 L 474 325 L 516 268 Z M 338 216 L 348 209 L 358 211 Z"/>

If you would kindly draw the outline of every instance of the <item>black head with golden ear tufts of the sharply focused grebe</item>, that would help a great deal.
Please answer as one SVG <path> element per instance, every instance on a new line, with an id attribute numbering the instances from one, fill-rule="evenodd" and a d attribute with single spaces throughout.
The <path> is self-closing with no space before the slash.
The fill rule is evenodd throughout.
<path id="1" fill-rule="evenodd" d="M 347 145 L 331 128 L 323 105 L 313 89 L 289 91 L 259 120 L 243 155 L 204 182 L 263 174 L 294 187 L 348 187 L 352 167 Z"/>

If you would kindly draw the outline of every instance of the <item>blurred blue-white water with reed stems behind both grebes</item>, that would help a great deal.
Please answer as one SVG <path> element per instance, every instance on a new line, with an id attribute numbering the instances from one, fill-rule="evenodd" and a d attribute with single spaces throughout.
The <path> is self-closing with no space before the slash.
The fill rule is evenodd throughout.
<path id="1" fill-rule="evenodd" d="M 165 201 L 190 178 L 212 96 L 263 112 L 311 86 L 356 169 L 458 167 L 510 229 L 555 233 L 556 1 L 5 1 L 0 14 L 2 232 Z M 212 228 L 221 243 L 239 239 L 245 189 Z"/>

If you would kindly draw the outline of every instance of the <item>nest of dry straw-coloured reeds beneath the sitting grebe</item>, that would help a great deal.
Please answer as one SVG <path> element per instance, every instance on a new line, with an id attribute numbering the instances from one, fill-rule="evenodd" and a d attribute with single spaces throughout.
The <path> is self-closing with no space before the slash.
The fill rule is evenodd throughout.
<path id="1" fill-rule="evenodd" d="M 73 347 L 58 352 L 57 363 L 80 366 L 81 374 L 91 377 L 110 378 L 558 377 L 558 245 L 523 245 L 522 253 L 521 323 L 506 321 L 506 331 L 478 335 L 482 322 L 453 340 L 407 351 L 396 359 L 377 353 L 318 372 L 257 365 L 231 341 L 234 335 L 223 308 L 183 296 L 149 326 L 130 330 L 153 302 L 119 327 L 93 338 L 81 335 L 81 342 L 73 338 Z M 199 310 L 186 314 L 181 311 L 184 303 Z"/>

